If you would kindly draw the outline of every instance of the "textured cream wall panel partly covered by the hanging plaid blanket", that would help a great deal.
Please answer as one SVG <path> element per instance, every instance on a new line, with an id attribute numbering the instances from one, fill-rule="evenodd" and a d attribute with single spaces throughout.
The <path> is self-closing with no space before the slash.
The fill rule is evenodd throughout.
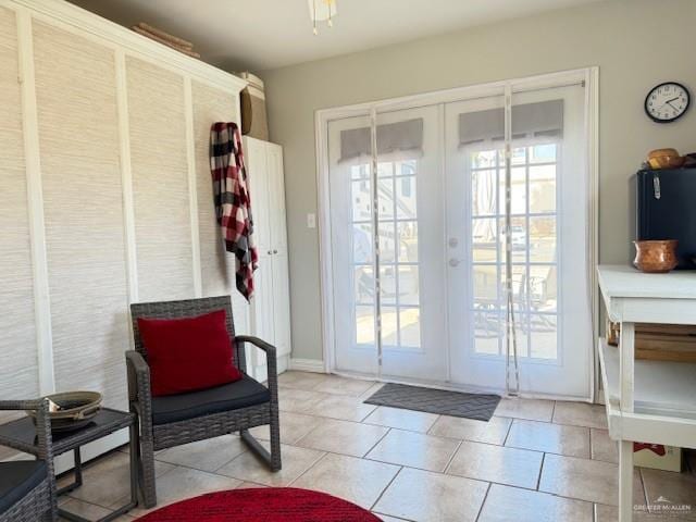
<path id="1" fill-rule="evenodd" d="M 248 306 L 235 288 L 234 258 L 225 253 L 215 221 L 209 161 L 210 126 L 214 122 L 238 121 L 237 99 L 229 92 L 198 82 L 192 82 L 191 95 L 203 296 L 232 294 L 237 331 L 248 332 Z"/>

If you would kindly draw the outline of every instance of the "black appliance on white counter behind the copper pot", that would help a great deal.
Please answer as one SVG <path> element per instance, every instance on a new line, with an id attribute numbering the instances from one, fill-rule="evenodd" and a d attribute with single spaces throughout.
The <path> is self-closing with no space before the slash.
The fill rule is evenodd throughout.
<path id="1" fill-rule="evenodd" d="M 696 169 L 638 171 L 637 239 L 676 239 L 678 269 L 696 270 Z"/>

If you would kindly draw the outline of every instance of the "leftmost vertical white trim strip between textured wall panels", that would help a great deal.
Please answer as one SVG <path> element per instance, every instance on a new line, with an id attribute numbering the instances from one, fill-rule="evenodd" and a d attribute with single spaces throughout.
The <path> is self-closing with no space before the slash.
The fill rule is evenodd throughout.
<path id="1" fill-rule="evenodd" d="M 34 75 L 34 39 L 32 15 L 27 10 L 16 11 L 20 84 L 22 88 L 22 117 L 26 191 L 29 213 L 29 240 L 34 273 L 34 308 L 36 316 L 36 343 L 38 359 L 39 394 L 55 390 L 53 370 L 53 337 L 51 331 L 50 286 L 44 220 L 44 190 L 41 185 L 41 159 L 39 150 L 38 109 Z"/>

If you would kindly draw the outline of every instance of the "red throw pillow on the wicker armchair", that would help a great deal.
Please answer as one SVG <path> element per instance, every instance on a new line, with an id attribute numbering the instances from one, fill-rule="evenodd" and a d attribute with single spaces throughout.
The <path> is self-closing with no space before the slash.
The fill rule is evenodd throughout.
<path id="1" fill-rule="evenodd" d="M 224 310 L 186 319 L 138 319 L 152 396 L 211 388 L 241 378 Z"/>

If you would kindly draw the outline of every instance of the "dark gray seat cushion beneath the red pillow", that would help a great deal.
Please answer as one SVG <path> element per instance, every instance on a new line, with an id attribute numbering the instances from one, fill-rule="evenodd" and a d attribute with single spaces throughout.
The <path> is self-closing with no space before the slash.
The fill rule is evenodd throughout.
<path id="1" fill-rule="evenodd" d="M 238 410 L 271 400 L 271 393 L 262 384 L 245 375 L 234 383 L 189 394 L 152 397 L 152 422 L 167 424 L 222 411 Z"/>

